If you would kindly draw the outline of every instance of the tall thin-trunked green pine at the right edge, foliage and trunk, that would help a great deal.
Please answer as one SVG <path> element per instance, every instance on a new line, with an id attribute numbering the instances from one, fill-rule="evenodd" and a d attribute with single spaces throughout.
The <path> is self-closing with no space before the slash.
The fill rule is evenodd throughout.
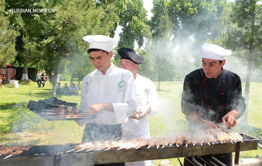
<path id="1" fill-rule="evenodd" d="M 238 56 L 247 61 L 246 85 L 244 91 L 245 103 L 247 105 L 245 113 L 242 115 L 241 124 L 247 125 L 249 88 L 251 69 L 254 64 L 261 67 L 262 48 L 262 4 L 261 0 L 236 0 L 233 4 L 231 21 L 237 27 L 233 27 L 228 33 L 227 42 Z"/>

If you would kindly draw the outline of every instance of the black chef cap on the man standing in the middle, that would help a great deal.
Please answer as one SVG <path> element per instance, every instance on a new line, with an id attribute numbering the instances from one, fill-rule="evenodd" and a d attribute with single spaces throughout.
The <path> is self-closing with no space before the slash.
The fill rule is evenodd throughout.
<path id="1" fill-rule="evenodd" d="M 127 59 L 131 60 L 132 62 L 136 64 L 142 64 L 144 61 L 144 58 L 141 56 L 138 56 L 135 52 L 135 50 L 131 48 L 125 48 L 122 47 L 119 50 L 117 50 L 118 54 L 120 55 L 120 59 Z"/>

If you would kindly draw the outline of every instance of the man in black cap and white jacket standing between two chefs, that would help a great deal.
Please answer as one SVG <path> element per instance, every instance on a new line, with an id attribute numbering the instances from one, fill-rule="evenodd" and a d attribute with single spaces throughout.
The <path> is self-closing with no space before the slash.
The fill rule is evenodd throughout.
<path id="1" fill-rule="evenodd" d="M 136 73 L 138 64 L 143 63 L 143 57 L 138 56 L 133 49 L 121 48 L 118 50 L 121 56 L 120 68 L 129 70 L 133 73 L 136 84 L 136 105 L 137 111 L 130 116 L 127 123 L 122 124 L 123 137 L 131 139 L 133 137 L 147 137 L 150 136 L 148 116 L 153 116 L 160 106 L 157 90 L 154 83 Z M 144 166 L 151 165 L 151 160 L 126 162 L 126 166 Z"/>

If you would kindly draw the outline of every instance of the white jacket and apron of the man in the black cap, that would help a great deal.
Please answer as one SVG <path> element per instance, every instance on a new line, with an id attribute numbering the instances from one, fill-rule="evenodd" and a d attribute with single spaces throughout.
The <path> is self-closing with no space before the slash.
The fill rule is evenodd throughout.
<path id="1" fill-rule="evenodd" d="M 139 138 L 143 136 L 144 138 L 150 136 L 148 116 L 153 116 L 154 113 L 159 109 L 160 101 L 158 99 L 157 90 L 154 83 L 143 76 L 137 74 L 136 79 L 136 106 L 149 105 L 151 108 L 150 114 L 146 114 L 142 119 L 136 120 L 128 118 L 127 123 L 123 123 L 122 136 L 123 138 L 131 139 L 133 137 Z M 149 166 L 151 165 L 151 160 L 147 161 L 136 161 L 136 162 L 126 162 L 126 166 Z"/>

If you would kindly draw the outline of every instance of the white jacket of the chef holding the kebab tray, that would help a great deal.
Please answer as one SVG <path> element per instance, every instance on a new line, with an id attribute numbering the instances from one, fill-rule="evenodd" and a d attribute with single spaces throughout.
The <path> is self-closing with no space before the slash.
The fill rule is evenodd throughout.
<path id="1" fill-rule="evenodd" d="M 86 111 L 95 103 L 112 103 L 114 112 L 103 110 L 91 120 L 79 120 L 85 123 L 116 125 L 126 123 L 127 118 L 136 112 L 136 87 L 133 74 L 115 67 L 113 63 L 105 75 L 94 70 L 82 81 L 81 102 L 79 109 Z"/>

